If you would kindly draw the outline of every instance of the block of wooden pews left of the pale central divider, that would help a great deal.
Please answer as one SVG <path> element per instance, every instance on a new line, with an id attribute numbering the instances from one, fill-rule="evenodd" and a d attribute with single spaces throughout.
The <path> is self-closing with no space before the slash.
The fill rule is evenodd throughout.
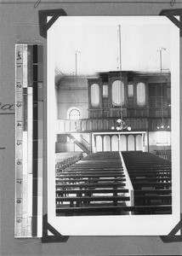
<path id="1" fill-rule="evenodd" d="M 127 196 L 128 189 L 125 189 L 126 178 L 119 153 L 107 155 L 106 160 L 103 153 L 88 155 L 84 160 L 57 173 L 55 193 L 58 216 L 59 212 L 68 215 L 82 215 L 84 212 L 86 215 L 94 215 L 100 214 L 100 209 L 101 211 L 109 209 L 105 210 L 105 214 L 109 214 L 111 206 L 126 207 L 126 201 L 130 198 Z M 114 157 L 111 158 L 113 155 Z M 71 212 L 66 211 L 68 206 Z M 82 212 L 82 207 L 86 207 L 87 210 Z M 120 214 L 120 212 L 117 209 L 117 213 Z M 127 212 L 126 209 L 124 212 Z M 117 213 L 114 212 L 114 214 Z"/>

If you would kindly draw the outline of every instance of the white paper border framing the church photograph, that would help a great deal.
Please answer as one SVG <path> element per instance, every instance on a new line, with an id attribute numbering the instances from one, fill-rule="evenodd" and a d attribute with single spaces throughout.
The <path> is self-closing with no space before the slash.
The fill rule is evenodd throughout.
<path id="1" fill-rule="evenodd" d="M 48 29 L 47 170 L 48 223 L 63 236 L 167 236 L 180 219 L 179 137 L 179 27 L 165 16 L 63 16 L 61 22 L 147 22 L 167 24 L 171 29 L 172 99 L 172 214 L 120 216 L 56 216 L 55 213 L 55 113 L 54 113 L 54 25 Z M 110 21 L 108 21 L 110 20 Z M 174 85 L 173 85 L 174 84 Z"/>

